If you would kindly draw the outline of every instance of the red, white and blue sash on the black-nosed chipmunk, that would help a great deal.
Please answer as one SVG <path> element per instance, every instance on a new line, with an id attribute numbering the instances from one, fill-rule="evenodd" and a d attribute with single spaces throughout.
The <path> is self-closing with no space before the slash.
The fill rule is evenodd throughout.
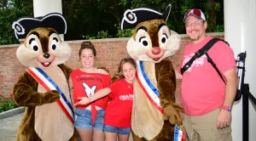
<path id="1" fill-rule="evenodd" d="M 61 89 L 55 84 L 55 82 L 50 79 L 50 77 L 40 68 L 29 67 L 26 70 L 40 85 L 42 85 L 46 91 L 57 90 L 60 93 L 61 99 L 57 100 L 57 104 L 60 105 L 61 110 L 65 113 L 67 118 L 73 122 L 73 107 L 70 102 L 65 97 L 65 94 Z"/>

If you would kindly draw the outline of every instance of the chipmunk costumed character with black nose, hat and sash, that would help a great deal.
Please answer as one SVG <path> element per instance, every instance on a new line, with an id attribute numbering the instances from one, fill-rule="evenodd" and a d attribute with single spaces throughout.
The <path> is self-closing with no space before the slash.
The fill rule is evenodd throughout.
<path id="1" fill-rule="evenodd" d="M 74 137 L 73 105 L 68 78 L 71 73 L 63 65 L 72 49 L 58 34 L 67 31 L 61 14 L 39 18 L 21 18 L 12 25 L 15 37 L 25 38 L 16 56 L 28 69 L 14 86 L 15 102 L 25 106 L 18 141 L 67 141 Z"/>

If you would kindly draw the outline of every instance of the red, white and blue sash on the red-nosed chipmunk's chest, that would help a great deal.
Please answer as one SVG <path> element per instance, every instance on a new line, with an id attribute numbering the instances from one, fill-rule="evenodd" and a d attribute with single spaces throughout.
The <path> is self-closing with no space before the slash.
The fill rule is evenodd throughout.
<path id="1" fill-rule="evenodd" d="M 164 110 L 160 106 L 159 91 L 157 90 L 156 87 L 154 87 L 154 84 L 150 82 L 150 80 L 148 79 L 148 76 L 144 71 L 143 62 L 137 60 L 136 63 L 137 63 L 136 78 L 137 78 L 138 84 L 143 89 L 143 92 L 146 93 L 146 96 L 148 97 L 150 102 L 154 104 L 154 107 L 157 110 L 159 110 L 162 114 L 164 114 Z"/>

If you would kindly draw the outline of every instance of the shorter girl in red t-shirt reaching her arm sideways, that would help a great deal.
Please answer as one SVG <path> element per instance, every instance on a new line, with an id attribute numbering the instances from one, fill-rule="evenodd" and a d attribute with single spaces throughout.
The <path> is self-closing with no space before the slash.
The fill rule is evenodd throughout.
<path id="1" fill-rule="evenodd" d="M 90 104 L 106 95 L 110 103 L 104 117 L 103 132 L 107 141 L 128 141 L 131 133 L 131 109 L 133 100 L 133 79 L 135 78 L 136 64 L 133 59 L 122 59 L 118 73 L 112 78 L 109 87 L 102 88 L 90 98 L 82 97 L 77 104 Z"/>

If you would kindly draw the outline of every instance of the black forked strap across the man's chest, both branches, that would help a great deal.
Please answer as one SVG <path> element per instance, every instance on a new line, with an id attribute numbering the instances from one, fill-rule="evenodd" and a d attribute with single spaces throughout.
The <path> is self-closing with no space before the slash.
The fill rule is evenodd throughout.
<path id="1" fill-rule="evenodd" d="M 195 55 L 189 59 L 189 61 L 183 65 L 183 68 L 181 68 L 181 74 L 183 75 L 183 73 L 185 71 L 187 71 L 190 67 L 190 65 L 193 64 L 194 60 L 197 59 L 197 58 L 200 58 L 203 54 L 206 54 L 207 55 L 207 61 L 212 65 L 212 67 L 217 71 L 218 73 L 218 76 L 220 76 L 220 78 L 223 80 L 224 83 L 225 80 L 224 80 L 224 76 L 222 76 L 222 74 L 220 73 L 220 71 L 218 71 L 218 68 L 217 66 L 215 65 L 215 63 L 212 61 L 212 59 L 210 58 L 209 54 L 207 54 L 207 51 L 212 48 L 213 44 L 218 42 L 218 41 L 222 41 L 222 42 L 225 42 L 224 40 L 222 39 L 219 39 L 219 38 L 212 38 L 212 40 L 210 40 L 209 42 L 207 42 L 207 44 L 202 47 L 201 49 L 199 49 L 197 52 L 195 52 Z M 230 45 L 228 42 L 225 42 L 227 43 L 228 45 Z"/>

